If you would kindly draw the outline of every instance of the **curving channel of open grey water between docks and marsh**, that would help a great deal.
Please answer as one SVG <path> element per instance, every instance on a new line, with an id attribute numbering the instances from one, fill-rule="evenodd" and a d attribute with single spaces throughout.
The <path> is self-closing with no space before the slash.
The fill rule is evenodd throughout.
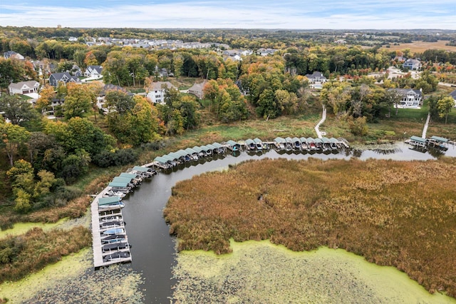
<path id="1" fill-rule="evenodd" d="M 438 154 L 438 153 L 437 153 Z M 445 153 L 447 156 L 456 156 L 456 148 L 450 146 Z M 142 285 L 145 293 L 145 303 L 170 303 L 173 286 L 177 283 L 172 279 L 172 268 L 176 265 L 175 240 L 169 234 L 169 227 L 165 223 L 162 210 L 171 196 L 172 186 L 178 181 L 192 178 L 208 171 L 227 169 L 229 165 L 247 160 L 261 158 L 289 158 L 289 159 L 349 159 L 351 157 L 366 160 L 368 158 L 393 159 L 401 161 L 435 159 L 430 153 L 413 151 L 405 143 L 375 147 L 370 150 L 350 150 L 340 153 L 278 153 L 271 150 L 259 154 L 240 153 L 239 156 L 215 156 L 190 166 L 175 168 L 170 172 L 161 172 L 157 176 L 144 181 L 133 193 L 123 201 L 125 208 L 123 216 L 129 242 L 133 245 L 132 267 L 142 273 L 145 282 Z M 217 181 L 214 181 L 217 182 Z"/>

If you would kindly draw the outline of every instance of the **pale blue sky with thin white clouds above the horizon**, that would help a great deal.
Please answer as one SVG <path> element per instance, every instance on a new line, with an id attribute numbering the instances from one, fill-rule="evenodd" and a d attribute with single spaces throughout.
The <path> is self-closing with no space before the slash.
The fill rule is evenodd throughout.
<path id="1" fill-rule="evenodd" d="M 0 26 L 454 29 L 455 0 L 0 0 Z"/>

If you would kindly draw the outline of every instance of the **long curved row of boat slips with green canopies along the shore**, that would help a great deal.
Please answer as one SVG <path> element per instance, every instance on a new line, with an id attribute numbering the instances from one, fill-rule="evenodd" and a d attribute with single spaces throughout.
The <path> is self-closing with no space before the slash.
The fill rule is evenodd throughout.
<path id="1" fill-rule="evenodd" d="M 246 151 L 247 153 L 266 153 L 274 149 L 278 153 L 295 151 L 296 153 L 338 151 L 348 148 L 343 138 L 318 138 L 318 146 L 309 146 L 309 141 L 314 138 L 276 138 L 274 141 L 261 141 L 260 138 L 247 139 L 245 142 L 227 141 L 223 143 L 209 143 L 203 146 L 180 149 L 163 156 L 157 156 L 154 161 L 142 166 L 134 166 L 127 172 L 120 173 L 113 178 L 108 186 L 93 199 L 92 235 L 93 235 L 93 265 L 95 269 L 112 265 L 114 263 L 130 263 L 130 243 L 128 243 L 127 230 L 123 221 L 122 208 L 125 203 L 122 198 L 133 191 L 142 183 L 144 178 L 157 175 L 158 171 L 167 171 L 170 168 L 187 167 L 187 164 L 205 162 L 212 158 L 224 158 L 229 151 L 232 155 Z M 332 143 L 332 144 L 331 144 Z"/>

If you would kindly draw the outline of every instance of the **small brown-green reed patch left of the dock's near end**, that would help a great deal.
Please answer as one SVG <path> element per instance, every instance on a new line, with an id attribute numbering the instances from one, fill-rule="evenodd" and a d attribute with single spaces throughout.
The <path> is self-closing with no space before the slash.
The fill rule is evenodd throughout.
<path id="1" fill-rule="evenodd" d="M 82 226 L 48 232 L 33 228 L 24 235 L 0 240 L 0 283 L 24 278 L 49 263 L 56 263 L 63 255 L 90 246 L 91 242 L 90 230 Z"/>

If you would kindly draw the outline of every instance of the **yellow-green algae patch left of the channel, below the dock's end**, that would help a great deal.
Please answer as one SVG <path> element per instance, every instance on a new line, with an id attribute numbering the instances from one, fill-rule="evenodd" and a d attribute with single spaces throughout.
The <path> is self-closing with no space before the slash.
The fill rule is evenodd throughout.
<path id="1" fill-rule="evenodd" d="M 8 303 L 142 303 L 141 275 L 129 265 L 93 270 L 93 253 L 83 249 L 18 282 L 0 285 Z"/>

